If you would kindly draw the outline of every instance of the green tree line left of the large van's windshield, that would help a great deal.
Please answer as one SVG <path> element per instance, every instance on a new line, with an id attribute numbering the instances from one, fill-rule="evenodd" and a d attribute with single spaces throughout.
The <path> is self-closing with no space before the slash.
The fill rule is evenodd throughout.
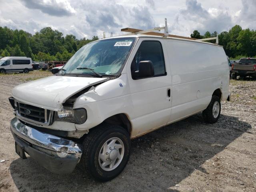
<path id="1" fill-rule="evenodd" d="M 0 27 L 0 56 L 26 56 L 35 61 L 67 61 L 83 45 L 98 40 L 82 38 L 46 27 L 34 35 L 24 30 Z"/>

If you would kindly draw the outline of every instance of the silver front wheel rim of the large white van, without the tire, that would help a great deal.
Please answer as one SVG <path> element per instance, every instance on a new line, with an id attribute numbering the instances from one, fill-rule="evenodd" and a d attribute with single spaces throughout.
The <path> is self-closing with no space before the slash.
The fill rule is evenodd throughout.
<path id="1" fill-rule="evenodd" d="M 124 157 L 124 143 L 120 138 L 108 139 L 101 147 L 98 157 L 100 168 L 112 171 L 119 166 Z"/>

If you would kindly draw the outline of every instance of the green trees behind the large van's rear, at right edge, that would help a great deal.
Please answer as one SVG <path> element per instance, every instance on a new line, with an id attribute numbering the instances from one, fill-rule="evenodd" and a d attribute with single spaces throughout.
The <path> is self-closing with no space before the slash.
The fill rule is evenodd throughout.
<path id="1" fill-rule="evenodd" d="M 207 31 L 203 36 L 200 35 L 198 30 L 190 35 L 192 38 L 210 38 L 216 37 L 217 32 L 210 33 Z M 235 25 L 228 32 L 223 31 L 218 34 L 219 45 L 222 45 L 226 55 L 230 59 L 238 60 L 242 57 L 254 57 L 256 58 L 256 31 L 248 29 L 242 29 L 241 26 Z M 215 42 L 210 40 L 209 42 Z"/>

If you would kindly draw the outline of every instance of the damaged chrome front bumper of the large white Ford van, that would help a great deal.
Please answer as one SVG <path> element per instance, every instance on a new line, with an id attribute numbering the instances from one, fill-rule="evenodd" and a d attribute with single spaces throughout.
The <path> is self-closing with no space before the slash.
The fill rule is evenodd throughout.
<path id="1" fill-rule="evenodd" d="M 13 118 L 10 122 L 15 141 L 31 158 L 51 172 L 70 173 L 80 161 L 82 150 L 72 140 L 40 132 Z"/>

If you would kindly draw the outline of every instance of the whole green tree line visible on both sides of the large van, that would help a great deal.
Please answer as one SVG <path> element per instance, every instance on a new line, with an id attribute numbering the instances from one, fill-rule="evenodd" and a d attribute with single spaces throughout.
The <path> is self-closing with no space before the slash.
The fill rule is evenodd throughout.
<path id="1" fill-rule="evenodd" d="M 216 37 L 217 32 L 207 31 L 201 35 L 198 30 L 190 35 L 192 38 Z M 235 25 L 228 32 L 218 34 L 219 45 L 222 45 L 227 56 L 232 59 L 241 57 L 256 57 L 256 31 L 242 29 Z M 50 27 L 42 28 L 34 35 L 24 30 L 12 30 L 8 27 L 0 27 L 0 56 L 27 56 L 36 61 L 67 61 L 83 45 L 98 40 L 98 36 L 92 39 L 82 38 L 53 30 Z M 214 43 L 215 40 L 209 42 Z"/>

